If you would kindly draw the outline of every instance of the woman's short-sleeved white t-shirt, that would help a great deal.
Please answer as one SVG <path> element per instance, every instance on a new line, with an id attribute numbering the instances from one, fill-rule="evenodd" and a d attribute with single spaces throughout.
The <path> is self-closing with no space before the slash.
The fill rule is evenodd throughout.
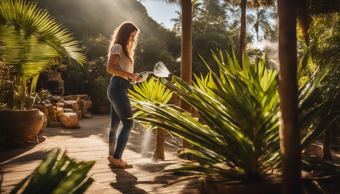
<path id="1" fill-rule="evenodd" d="M 115 44 L 112 47 L 110 56 L 113 55 L 113 54 L 119 55 L 119 59 L 118 59 L 116 65 L 115 65 L 115 67 L 117 67 L 118 69 L 120 69 L 122 71 L 133 73 L 133 64 L 131 63 L 129 57 L 127 57 L 124 54 L 123 47 L 120 44 Z M 113 75 L 113 76 L 115 76 L 115 75 Z M 121 77 L 123 77 L 123 76 L 121 76 Z M 129 80 L 128 77 L 123 77 L 123 78 L 126 79 L 126 80 Z"/>

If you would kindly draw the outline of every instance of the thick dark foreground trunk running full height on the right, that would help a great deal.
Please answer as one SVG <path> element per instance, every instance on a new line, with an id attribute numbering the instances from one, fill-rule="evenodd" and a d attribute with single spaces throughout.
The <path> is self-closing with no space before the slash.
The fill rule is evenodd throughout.
<path id="1" fill-rule="evenodd" d="M 296 1 L 278 0 L 279 95 L 283 132 L 282 158 L 284 194 L 301 193 L 301 148 L 297 114 Z"/>

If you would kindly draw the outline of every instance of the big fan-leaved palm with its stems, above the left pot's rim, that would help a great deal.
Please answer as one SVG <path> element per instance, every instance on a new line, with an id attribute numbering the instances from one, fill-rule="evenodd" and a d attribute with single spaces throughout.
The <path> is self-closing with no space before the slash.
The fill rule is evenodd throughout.
<path id="1" fill-rule="evenodd" d="M 11 72 L 17 74 L 8 108 L 22 110 L 26 100 L 26 109 L 32 107 L 31 94 L 35 91 L 39 73 L 48 69 L 56 56 L 66 55 L 81 65 L 86 62 L 85 55 L 78 52 L 82 50 L 77 45 L 79 42 L 73 41 L 67 29 L 61 26 L 47 10 L 39 10 L 35 3 L 23 0 L 1 2 L 0 53 L 12 66 Z M 13 104 L 15 96 L 19 99 L 18 105 Z"/>

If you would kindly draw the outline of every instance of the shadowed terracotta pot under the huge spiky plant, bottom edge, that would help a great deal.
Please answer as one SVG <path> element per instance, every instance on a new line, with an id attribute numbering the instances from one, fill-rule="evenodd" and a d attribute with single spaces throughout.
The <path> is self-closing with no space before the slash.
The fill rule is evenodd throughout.
<path id="1" fill-rule="evenodd" d="M 242 181 L 228 181 L 221 179 L 203 178 L 203 188 L 207 194 L 280 194 L 279 180 L 244 183 Z"/>

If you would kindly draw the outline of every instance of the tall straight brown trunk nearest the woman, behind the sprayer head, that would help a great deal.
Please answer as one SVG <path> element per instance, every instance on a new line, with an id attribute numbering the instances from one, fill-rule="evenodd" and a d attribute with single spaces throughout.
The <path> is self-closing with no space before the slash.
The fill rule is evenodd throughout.
<path id="1" fill-rule="evenodd" d="M 192 5 L 191 0 L 182 0 L 182 62 L 181 78 L 191 84 L 191 28 L 192 28 Z M 180 100 L 180 107 L 191 112 L 191 106 Z M 183 146 L 190 146 L 190 143 L 182 140 Z"/>

